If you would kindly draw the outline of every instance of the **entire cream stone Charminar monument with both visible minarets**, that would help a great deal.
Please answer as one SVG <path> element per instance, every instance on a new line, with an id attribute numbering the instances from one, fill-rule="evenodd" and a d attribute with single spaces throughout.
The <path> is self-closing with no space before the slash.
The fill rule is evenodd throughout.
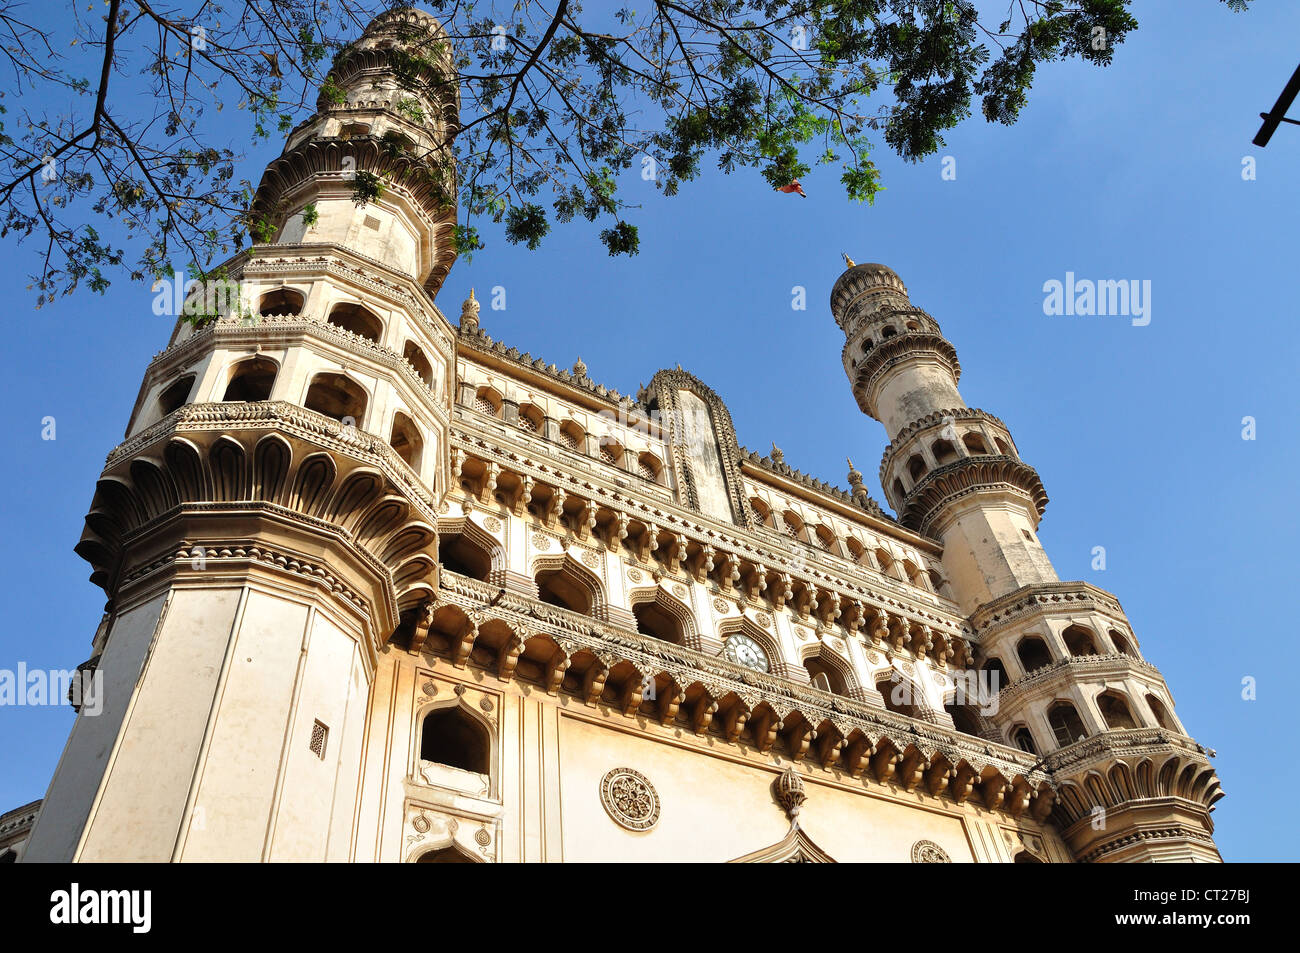
<path id="1" fill-rule="evenodd" d="M 20 859 L 1218 861 L 1212 753 L 889 268 L 829 311 L 893 516 L 680 368 L 619 394 L 438 302 L 456 213 L 412 156 L 456 83 L 389 51 L 448 70 L 441 36 L 396 10 L 339 55 L 244 303 L 146 369 L 77 545 L 101 711 Z"/>

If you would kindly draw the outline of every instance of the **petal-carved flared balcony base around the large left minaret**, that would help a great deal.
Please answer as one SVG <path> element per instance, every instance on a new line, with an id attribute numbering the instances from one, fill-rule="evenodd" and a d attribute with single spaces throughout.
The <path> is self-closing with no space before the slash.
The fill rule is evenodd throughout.
<path id="1" fill-rule="evenodd" d="M 376 640 L 436 585 L 436 508 L 411 468 L 374 436 L 282 402 L 185 404 L 120 446 L 109 454 L 75 549 L 94 567 L 92 581 L 116 598 L 124 582 L 183 558 L 190 546 L 209 549 L 202 538 L 178 537 L 160 553 L 156 541 L 142 550 L 142 540 L 165 542 L 160 533 L 186 534 L 195 520 L 209 525 L 208 517 L 222 532 L 247 516 L 342 543 L 355 556 L 356 580 L 338 579 L 348 566 L 342 558 L 325 567 L 257 538 L 199 555 L 269 560 L 281 569 L 298 563 L 300 575 L 352 602 L 355 586 L 372 586 L 364 595 Z M 186 521 L 173 528 L 178 517 Z"/>

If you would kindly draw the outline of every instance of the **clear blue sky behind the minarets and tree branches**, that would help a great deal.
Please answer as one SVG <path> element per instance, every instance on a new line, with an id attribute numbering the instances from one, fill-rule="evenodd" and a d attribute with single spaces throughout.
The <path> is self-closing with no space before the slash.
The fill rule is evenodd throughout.
<path id="1" fill-rule="evenodd" d="M 1184 724 L 1218 750 L 1225 858 L 1297 859 L 1287 796 L 1300 770 L 1277 745 L 1297 727 L 1286 679 L 1300 662 L 1282 612 L 1300 536 L 1300 127 L 1266 150 L 1251 138 L 1296 66 L 1300 7 L 1135 8 L 1141 29 L 1113 66 L 1049 66 L 1015 126 L 976 117 L 950 133 L 954 181 L 940 156 L 906 165 L 883 148 L 888 190 L 874 207 L 848 202 L 831 169 L 803 178 L 806 200 L 757 173 L 708 174 L 673 199 L 630 176 L 628 195 L 644 190 L 640 256 L 606 256 L 585 224 L 536 252 L 486 228 L 489 248 L 452 268 L 438 304 L 455 320 L 473 285 L 490 334 L 562 367 L 581 355 L 621 391 L 680 363 L 728 402 L 742 443 L 775 441 L 840 485 L 852 456 L 880 499 L 884 430 L 857 410 L 827 300 L 841 251 L 890 265 L 956 345 L 966 402 L 1006 421 L 1039 469 L 1052 497 L 1040 536 L 1062 579 L 1119 597 Z M 242 174 L 256 181 L 272 152 Z M 1242 178 L 1245 156 L 1254 181 Z M 34 311 L 35 254 L 6 243 L 0 256 L 0 668 L 88 654 L 104 595 L 72 547 L 170 332 L 125 278 Z M 1045 316 L 1043 285 L 1066 272 L 1149 280 L 1150 324 Z M 493 286 L 504 311 L 486 307 Z M 794 286 L 806 311 L 790 307 Z M 1254 441 L 1242 439 L 1244 416 Z M 1095 546 L 1104 572 L 1089 566 Z M 1256 701 L 1242 698 L 1244 677 Z M 0 811 L 44 793 L 70 724 L 66 709 L 0 711 Z"/>

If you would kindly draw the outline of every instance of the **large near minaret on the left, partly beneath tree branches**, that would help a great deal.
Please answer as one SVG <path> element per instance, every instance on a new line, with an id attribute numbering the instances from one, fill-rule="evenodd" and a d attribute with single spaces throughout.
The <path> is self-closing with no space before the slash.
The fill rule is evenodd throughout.
<path id="1" fill-rule="evenodd" d="M 103 692 L 26 861 L 350 859 L 377 658 L 438 585 L 450 64 L 411 9 L 344 48 L 257 190 L 238 294 L 192 289 L 212 313 L 150 364 L 77 546 Z"/>

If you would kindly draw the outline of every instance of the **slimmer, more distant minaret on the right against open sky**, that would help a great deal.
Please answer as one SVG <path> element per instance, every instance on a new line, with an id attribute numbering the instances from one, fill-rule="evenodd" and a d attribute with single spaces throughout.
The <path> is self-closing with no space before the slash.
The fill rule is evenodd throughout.
<path id="1" fill-rule="evenodd" d="M 902 280 L 854 264 L 831 293 L 844 369 L 890 443 L 880 482 L 900 521 L 935 537 L 975 633 L 982 711 L 1040 755 L 1053 818 L 1080 861 L 1217 861 L 1210 754 L 1174 715 L 1119 602 L 1063 582 L 1037 540 L 1046 493 L 1001 420 L 957 390 L 957 351 Z"/>

